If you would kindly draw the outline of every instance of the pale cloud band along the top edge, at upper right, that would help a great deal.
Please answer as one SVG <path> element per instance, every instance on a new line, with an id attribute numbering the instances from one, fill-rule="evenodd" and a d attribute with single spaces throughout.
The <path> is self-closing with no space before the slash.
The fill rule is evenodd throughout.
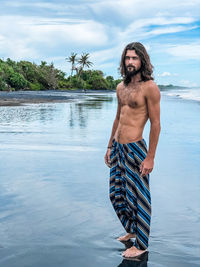
<path id="1" fill-rule="evenodd" d="M 97 15 L 103 14 L 105 10 L 109 10 L 110 13 L 114 13 L 125 19 L 135 20 L 141 17 L 149 18 L 152 14 L 155 16 L 159 14 L 165 14 L 169 17 L 177 17 L 179 14 L 182 16 L 199 17 L 198 8 L 199 0 L 102 0 L 90 4 L 90 7 Z"/>

